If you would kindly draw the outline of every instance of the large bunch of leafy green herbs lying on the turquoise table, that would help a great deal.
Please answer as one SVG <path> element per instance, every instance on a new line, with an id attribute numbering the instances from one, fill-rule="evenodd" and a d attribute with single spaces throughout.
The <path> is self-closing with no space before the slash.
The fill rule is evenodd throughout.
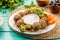
<path id="1" fill-rule="evenodd" d="M 0 8 L 15 9 L 17 6 L 22 5 L 24 0 L 1 0 Z"/>

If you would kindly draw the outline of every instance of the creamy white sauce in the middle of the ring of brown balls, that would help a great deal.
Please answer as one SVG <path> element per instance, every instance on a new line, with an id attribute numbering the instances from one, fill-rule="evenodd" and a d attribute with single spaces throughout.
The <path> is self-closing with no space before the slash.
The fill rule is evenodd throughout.
<path id="1" fill-rule="evenodd" d="M 39 22 L 39 16 L 36 14 L 28 14 L 22 17 L 26 24 L 33 24 L 34 22 Z"/>

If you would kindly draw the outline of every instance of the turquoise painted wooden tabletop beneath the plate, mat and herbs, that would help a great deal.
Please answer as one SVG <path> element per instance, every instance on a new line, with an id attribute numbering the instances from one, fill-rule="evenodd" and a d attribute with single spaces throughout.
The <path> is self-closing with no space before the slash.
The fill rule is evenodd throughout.
<path id="1" fill-rule="evenodd" d="M 36 4 L 36 0 L 25 0 L 25 4 L 30 4 L 33 1 Z M 19 7 L 18 7 L 19 8 Z M 6 10 L 5 14 L 2 14 L 3 10 Z M 4 23 L 0 26 L 0 40 L 32 40 L 30 38 L 22 37 L 8 26 L 8 15 L 10 13 L 9 9 L 0 9 L 0 15 L 4 17 Z M 58 39 L 60 40 L 60 39 Z"/>

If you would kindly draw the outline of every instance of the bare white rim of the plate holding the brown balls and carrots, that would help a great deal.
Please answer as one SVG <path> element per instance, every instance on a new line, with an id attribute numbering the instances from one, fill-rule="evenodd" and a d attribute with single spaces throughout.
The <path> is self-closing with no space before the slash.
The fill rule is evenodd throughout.
<path id="1" fill-rule="evenodd" d="M 15 31 L 17 31 L 17 32 L 21 32 L 21 31 L 20 31 L 19 28 L 15 25 L 14 16 L 15 16 L 16 14 L 18 14 L 19 12 L 20 12 L 20 11 L 15 12 L 14 14 L 12 14 L 12 15 L 10 16 L 9 20 L 8 20 L 9 26 L 10 26 L 13 30 L 15 30 Z M 44 28 L 44 29 L 42 29 L 42 30 L 39 30 L 39 31 L 37 31 L 37 32 L 24 32 L 24 34 L 33 34 L 33 35 L 36 35 L 36 34 L 46 33 L 46 32 L 48 32 L 48 31 L 52 30 L 52 29 L 55 27 L 55 25 L 56 25 L 56 23 L 54 23 L 54 24 L 52 24 L 52 25 L 49 25 L 49 26 L 47 26 L 46 28 Z"/>

